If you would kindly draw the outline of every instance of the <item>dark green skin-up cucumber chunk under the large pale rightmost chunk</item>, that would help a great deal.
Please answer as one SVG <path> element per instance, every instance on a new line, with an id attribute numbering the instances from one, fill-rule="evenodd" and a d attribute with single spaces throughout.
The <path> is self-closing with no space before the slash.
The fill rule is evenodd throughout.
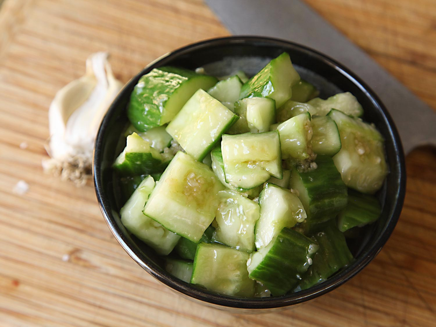
<path id="1" fill-rule="evenodd" d="M 376 221 L 380 214 L 381 205 L 377 198 L 349 190 L 347 207 L 337 216 L 337 227 L 341 232 L 363 227 Z"/>

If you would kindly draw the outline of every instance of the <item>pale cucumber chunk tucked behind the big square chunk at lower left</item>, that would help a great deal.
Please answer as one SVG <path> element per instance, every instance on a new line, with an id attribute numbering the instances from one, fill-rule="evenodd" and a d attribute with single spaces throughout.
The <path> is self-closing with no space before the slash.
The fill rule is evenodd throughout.
<path id="1" fill-rule="evenodd" d="M 153 177 L 146 177 L 121 208 L 121 222 L 129 232 L 153 248 L 158 254 L 167 255 L 179 241 L 176 235 L 142 213 L 154 188 Z"/>

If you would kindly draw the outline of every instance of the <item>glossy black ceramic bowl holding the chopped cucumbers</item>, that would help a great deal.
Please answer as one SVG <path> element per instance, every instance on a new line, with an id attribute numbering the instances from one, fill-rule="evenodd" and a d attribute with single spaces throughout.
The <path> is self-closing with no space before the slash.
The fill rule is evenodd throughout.
<path id="1" fill-rule="evenodd" d="M 120 222 L 119 209 L 123 200 L 119 198 L 118 181 L 111 164 L 125 145 L 123 141 L 120 142 L 120 137 L 127 123 L 126 105 L 139 78 L 155 67 L 173 65 L 194 69 L 203 66 L 212 74 L 226 75 L 242 65 L 249 74 L 255 74 L 271 58 L 277 57 L 283 51 L 290 54 L 302 78 L 317 86 L 321 92 L 320 97 L 346 91 L 354 94 L 364 108 L 364 120 L 374 123 L 385 137 L 390 173 L 378 192 L 383 212 L 375 224 L 364 230 L 360 238 L 350 242 L 349 246 L 356 258 L 354 263 L 324 283 L 297 293 L 268 298 L 241 298 L 208 292 L 167 273 L 162 269 L 161 259 L 153 250 L 130 235 Z M 143 269 L 172 289 L 192 299 L 204 301 L 203 303 L 228 308 L 266 309 L 290 306 L 314 299 L 342 285 L 374 259 L 386 243 L 398 221 L 405 194 L 404 155 L 399 135 L 385 106 L 375 93 L 347 68 L 323 54 L 298 44 L 266 37 L 225 37 L 202 41 L 165 54 L 144 68 L 126 84 L 102 121 L 95 143 L 93 173 L 102 213 L 113 235 L 126 252 Z"/>

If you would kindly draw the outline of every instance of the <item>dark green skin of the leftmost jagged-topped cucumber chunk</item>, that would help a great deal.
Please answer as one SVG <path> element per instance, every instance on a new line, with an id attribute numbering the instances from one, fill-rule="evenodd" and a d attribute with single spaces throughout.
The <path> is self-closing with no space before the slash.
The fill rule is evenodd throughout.
<path id="1" fill-rule="evenodd" d="M 136 176 L 161 173 L 168 164 L 154 158 L 151 153 L 126 153 L 124 162 L 112 167 L 121 176 Z"/>

